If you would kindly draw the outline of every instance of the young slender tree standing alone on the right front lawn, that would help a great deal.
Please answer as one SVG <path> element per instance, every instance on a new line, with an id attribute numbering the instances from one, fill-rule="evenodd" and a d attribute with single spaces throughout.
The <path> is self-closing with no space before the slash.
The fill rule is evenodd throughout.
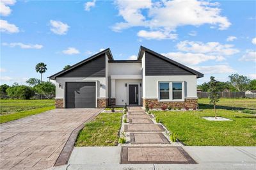
<path id="1" fill-rule="evenodd" d="M 216 103 L 219 102 L 220 100 L 220 95 L 218 94 L 218 89 L 217 89 L 217 81 L 214 79 L 213 76 L 210 77 L 210 86 L 209 86 L 209 91 L 210 91 L 210 104 L 214 105 L 214 114 L 215 114 L 215 119 L 217 119 L 216 116 Z"/>

